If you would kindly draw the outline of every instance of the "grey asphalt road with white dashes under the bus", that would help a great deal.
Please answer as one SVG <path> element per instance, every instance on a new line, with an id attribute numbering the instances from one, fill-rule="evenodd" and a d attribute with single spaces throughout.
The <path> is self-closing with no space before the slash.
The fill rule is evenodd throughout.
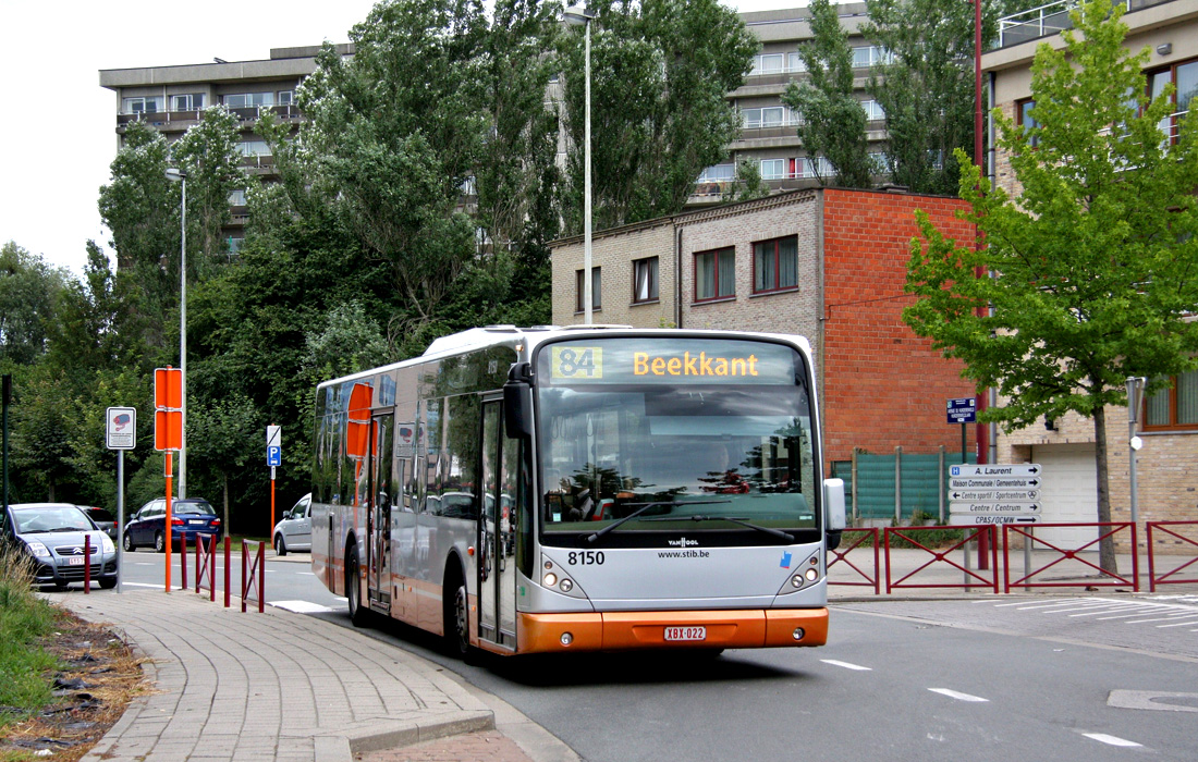
<path id="1" fill-rule="evenodd" d="M 303 561 L 267 564 L 267 600 L 349 627 Z M 161 583 L 159 556 L 127 562 L 126 583 L 156 570 Z M 843 603 L 823 648 L 716 659 L 465 665 L 410 628 L 365 631 L 498 695 L 592 762 L 1198 757 L 1198 597 Z"/>

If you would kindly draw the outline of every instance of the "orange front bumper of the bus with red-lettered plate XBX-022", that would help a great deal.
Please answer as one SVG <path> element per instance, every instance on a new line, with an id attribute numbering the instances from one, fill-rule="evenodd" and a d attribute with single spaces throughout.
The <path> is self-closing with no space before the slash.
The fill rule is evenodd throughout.
<path id="1" fill-rule="evenodd" d="M 823 646 L 828 609 L 520 613 L 518 653 Z M 667 640 L 698 637 L 698 640 Z"/>

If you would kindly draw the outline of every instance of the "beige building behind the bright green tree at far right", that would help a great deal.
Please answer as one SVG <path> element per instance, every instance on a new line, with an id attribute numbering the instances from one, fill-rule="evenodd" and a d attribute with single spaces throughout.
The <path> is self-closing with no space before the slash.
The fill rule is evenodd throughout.
<path id="1" fill-rule="evenodd" d="M 1031 62 L 1041 43 L 1061 48 L 1060 30 L 1070 26 L 1070 2 L 1048 4 L 1005 18 L 997 48 L 982 55 L 982 69 L 994 104 L 1016 123 L 1033 119 Z M 1150 50 L 1145 73 L 1151 92 L 1166 81 L 1176 85 L 1176 108 L 1167 133 L 1175 139 L 1176 125 L 1198 93 L 1198 0 L 1133 0 L 1123 18 L 1129 26 L 1126 47 Z M 1009 157 L 994 156 L 994 179 L 1008 193 L 1017 192 Z M 1139 411 L 1143 449 L 1137 454 L 1138 514 L 1140 521 L 1193 521 L 1198 519 L 1198 373 L 1174 379 L 1172 389 L 1144 401 Z M 1131 520 L 1131 467 L 1126 407 L 1108 407 L 1107 458 L 1113 521 Z M 1055 507 L 1061 520 L 1097 520 L 1094 423 L 1073 413 L 1055 421 L 997 435 L 999 462 L 1039 462 L 1043 466 L 1041 497 Z M 1060 532 L 1065 542 L 1081 533 Z M 1091 532 L 1093 534 L 1093 532 Z M 1039 532 L 1037 532 L 1039 536 Z M 1117 538 L 1121 544 L 1124 536 Z M 1144 527 L 1138 543 L 1145 543 Z M 1157 552 L 1185 550 L 1181 540 L 1160 536 Z M 1192 546 L 1190 546 L 1192 551 Z"/>

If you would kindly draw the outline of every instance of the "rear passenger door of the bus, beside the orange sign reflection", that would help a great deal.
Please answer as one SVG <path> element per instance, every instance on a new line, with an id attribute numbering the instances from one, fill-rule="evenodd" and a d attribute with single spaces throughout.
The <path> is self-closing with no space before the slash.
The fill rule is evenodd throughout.
<path id="1" fill-rule="evenodd" d="M 370 419 L 370 490 L 367 492 L 367 601 L 370 609 L 391 615 L 391 513 L 394 415 Z"/>

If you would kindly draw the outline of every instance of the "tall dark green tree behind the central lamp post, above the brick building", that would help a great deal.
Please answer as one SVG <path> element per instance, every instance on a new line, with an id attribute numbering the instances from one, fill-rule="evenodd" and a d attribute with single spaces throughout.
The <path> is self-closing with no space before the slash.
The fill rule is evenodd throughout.
<path id="1" fill-rule="evenodd" d="M 744 81 L 756 37 L 718 0 L 592 4 L 591 150 L 597 229 L 677 212 L 706 167 L 727 157 L 740 120 L 727 93 Z M 583 31 L 564 36 L 570 138 L 564 219 L 582 229 Z"/>

